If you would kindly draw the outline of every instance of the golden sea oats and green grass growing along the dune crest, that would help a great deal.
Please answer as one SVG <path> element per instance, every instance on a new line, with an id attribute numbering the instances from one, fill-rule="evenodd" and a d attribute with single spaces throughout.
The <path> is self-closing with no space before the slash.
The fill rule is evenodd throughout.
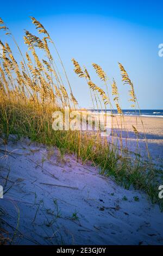
<path id="1" fill-rule="evenodd" d="M 34 17 L 31 19 L 37 31 L 43 37 L 39 38 L 29 31 L 25 32 L 24 43 L 28 46 L 26 57 L 23 57 L 14 36 L 3 20 L 0 19 L 0 29 L 14 40 L 22 58 L 20 64 L 18 64 L 9 44 L 0 40 L 2 47 L 0 63 L 0 136 L 5 143 L 7 143 L 10 134 L 16 134 L 18 138 L 28 136 L 32 141 L 53 145 L 62 150 L 62 152 L 76 154 L 78 159 L 83 162 L 90 160 L 92 164 L 99 167 L 99 173 L 114 177 L 115 181 L 125 188 L 129 189 L 133 185 L 134 188 L 145 191 L 152 202 L 158 203 L 162 210 L 163 203 L 158 198 L 159 183 L 152 167 L 149 153 L 149 162 L 143 161 L 139 155 L 135 155 L 135 157 L 129 155 L 127 150 L 123 149 L 122 133 L 120 138 L 117 136 L 117 141 L 120 139 L 121 145 L 121 149 L 119 149 L 117 143 L 108 143 L 105 137 L 101 137 L 100 132 L 95 134 L 95 132 L 54 131 L 52 129 L 52 113 L 55 110 L 64 112 L 64 107 L 79 109 L 79 106 L 76 97 L 73 95 L 64 64 L 51 36 L 39 21 Z M 59 68 L 49 50 L 49 44 L 54 46 L 60 62 L 60 68 L 63 70 L 65 77 L 61 77 Z M 40 59 L 39 51 L 43 51 L 46 58 Z M 104 90 L 92 82 L 85 67 L 82 70 L 76 60 L 72 59 L 72 62 L 74 64 L 74 72 L 79 77 L 86 79 L 93 107 L 102 109 L 104 106 L 106 111 L 106 107 L 109 106 L 111 117 L 113 118 L 114 107 L 110 100 L 111 95 L 108 92 L 108 87 L 110 86 L 117 112 L 121 118 L 120 128 L 122 129 L 122 124 L 125 127 L 120 95 L 118 94 L 115 80 L 109 82 L 101 66 L 93 63 L 96 74 L 104 83 L 106 88 Z M 122 81 L 130 86 L 131 107 L 135 108 L 137 99 L 133 83 L 130 81 L 122 64 L 119 63 L 119 66 Z M 133 131 L 138 136 L 135 126 L 133 126 Z M 139 143 L 138 137 L 137 143 Z M 146 147 L 148 151 L 147 142 Z"/>

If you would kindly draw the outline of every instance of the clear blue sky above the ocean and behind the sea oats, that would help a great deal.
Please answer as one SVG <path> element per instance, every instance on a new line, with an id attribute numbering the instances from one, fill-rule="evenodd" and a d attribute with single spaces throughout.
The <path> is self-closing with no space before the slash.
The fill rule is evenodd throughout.
<path id="1" fill-rule="evenodd" d="M 23 29 L 37 35 L 29 16 L 39 20 L 55 41 L 80 106 L 91 107 L 91 101 L 84 78 L 73 72 L 72 58 L 103 87 L 91 67 L 101 65 L 110 80 L 115 78 L 122 107 L 129 108 L 128 87 L 123 86 L 117 65 L 121 62 L 134 83 L 140 108 L 163 108 L 163 57 L 158 54 L 163 44 L 162 1 L 1 1 L 0 17 L 22 51 L 26 51 Z M 2 32 L 0 36 L 7 39 Z"/>

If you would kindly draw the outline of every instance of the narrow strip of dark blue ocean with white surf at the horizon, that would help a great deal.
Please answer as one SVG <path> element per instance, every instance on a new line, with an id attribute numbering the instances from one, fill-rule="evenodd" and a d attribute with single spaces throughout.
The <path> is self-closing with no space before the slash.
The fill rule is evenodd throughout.
<path id="1" fill-rule="evenodd" d="M 97 109 L 96 110 L 92 110 L 92 112 L 98 112 Z M 103 109 L 103 111 L 105 111 L 105 109 Z M 110 109 L 106 110 L 107 113 L 111 113 Z M 138 109 L 122 109 L 123 114 L 124 115 L 139 115 L 139 110 Z M 99 110 L 99 112 L 102 112 L 101 110 Z M 114 114 L 117 114 L 117 109 L 114 109 L 112 111 Z M 140 109 L 140 113 L 142 117 L 160 117 L 163 118 L 163 109 Z"/>

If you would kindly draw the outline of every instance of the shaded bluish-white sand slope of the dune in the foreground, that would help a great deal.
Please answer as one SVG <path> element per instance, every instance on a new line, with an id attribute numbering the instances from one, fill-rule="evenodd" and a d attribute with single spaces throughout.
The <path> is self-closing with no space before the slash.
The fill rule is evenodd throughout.
<path id="1" fill-rule="evenodd" d="M 90 163 L 82 165 L 70 155 L 62 159 L 58 150 L 50 154 L 28 139 L 10 141 L 7 151 L 0 154 L 0 185 L 8 180 L 0 204 L 11 238 L 18 223 L 12 243 L 163 244 L 163 214 L 145 193 L 125 190 Z"/>

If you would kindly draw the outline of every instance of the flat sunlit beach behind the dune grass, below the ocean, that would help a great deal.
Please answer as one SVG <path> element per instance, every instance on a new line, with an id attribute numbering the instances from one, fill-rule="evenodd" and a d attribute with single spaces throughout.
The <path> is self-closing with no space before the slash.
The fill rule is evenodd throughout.
<path id="1" fill-rule="evenodd" d="M 85 114 L 92 115 L 93 120 L 102 121 L 104 124 L 105 113 L 86 112 Z M 134 132 L 133 126 L 137 133 Z M 148 116 L 134 116 L 134 115 L 113 115 L 106 114 L 106 129 L 109 132 L 106 135 L 108 142 L 123 148 L 128 149 L 131 153 L 140 154 L 162 169 L 162 155 L 163 155 L 163 118 L 162 117 L 148 117 Z M 118 139 L 117 139 L 118 138 Z M 147 149 L 148 148 L 148 149 Z M 149 153 L 149 155 L 148 155 Z"/>

